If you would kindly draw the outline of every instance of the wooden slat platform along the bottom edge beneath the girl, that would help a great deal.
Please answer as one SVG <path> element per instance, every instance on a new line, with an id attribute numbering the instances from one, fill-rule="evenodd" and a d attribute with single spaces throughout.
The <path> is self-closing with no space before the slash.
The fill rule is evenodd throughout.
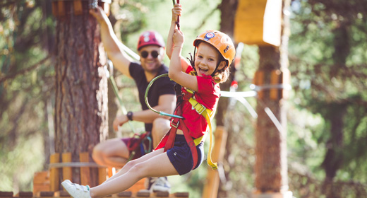
<path id="1" fill-rule="evenodd" d="M 131 192 L 125 191 L 119 194 L 112 194 L 108 196 L 109 198 L 119 198 L 119 197 L 152 197 L 152 198 L 178 198 L 178 197 L 188 197 L 188 192 L 175 192 L 169 194 L 168 192 Z M 42 191 L 38 194 L 33 194 L 33 192 L 19 192 L 18 194 L 13 194 L 13 192 L 1 192 L 0 198 L 71 198 L 68 192 L 49 192 Z"/>

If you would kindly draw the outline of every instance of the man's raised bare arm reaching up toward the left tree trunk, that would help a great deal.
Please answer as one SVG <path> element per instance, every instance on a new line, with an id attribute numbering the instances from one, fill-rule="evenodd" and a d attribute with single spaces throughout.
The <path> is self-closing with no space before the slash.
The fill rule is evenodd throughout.
<path id="1" fill-rule="evenodd" d="M 104 13 L 101 7 L 90 9 L 89 13 L 97 19 L 98 23 L 100 23 L 102 43 L 109 59 L 112 60 L 116 69 L 121 71 L 125 76 L 131 78 L 128 66 L 133 59 L 119 47 L 122 43 L 117 39 L 106 13 Z"/>

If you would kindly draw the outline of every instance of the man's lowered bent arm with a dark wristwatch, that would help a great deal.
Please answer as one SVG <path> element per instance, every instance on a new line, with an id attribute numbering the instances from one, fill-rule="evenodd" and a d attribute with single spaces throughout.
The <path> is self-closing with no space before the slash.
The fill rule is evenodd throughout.
<path id="1" fill-rule="evenodd" d="M 158 99 L 158 105 L 152 107 L 157 111 L 167 112 L 167 113 L 174 113 L 174 108 L 176 107 L 176 95 L 174 94 L 164 94 L 160 95 Z M 152 110 L 141 110 L 133 112 L 133 120 L 144 122 L 144 123 L 152 123 L 157 117 L 164 117 L 165 119 L 169 119 L 168 116 L 162 116 L 153 112 Z M 128 117 L 126 115 L 119 115 L 115 118 L 113 127 L 114 130 L 117 131 L 117 127 L 121 126 L 122 124 L 128 122 Z"/>

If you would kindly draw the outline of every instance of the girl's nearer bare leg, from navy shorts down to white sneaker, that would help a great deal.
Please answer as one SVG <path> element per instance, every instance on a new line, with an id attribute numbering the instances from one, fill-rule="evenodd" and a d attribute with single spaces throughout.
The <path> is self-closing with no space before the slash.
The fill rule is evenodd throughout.
<path id="1" fill-rule="evenodd" d="M 102 185 L 92 187 L 90 189 L 90 196 L 92 198 L 105 197 L 109 194 L 122 192 L 144 177 L 178 175 L 179 173 L 177 173 L 171 161 L 169 161 L 167 153 L 163 153 L 163 150 L 160 150 L 152 152 L 150 157 L 145 155 L 146 157 L 143 156 L 136 161 L 129 162 L 133 165 L 128 169 L 126 168 L 124 170 L 125 173 L 121 173 L 120 171 L 118 173 L 119 175 L 116 174 L 116 177 L 111 177 L 111 179 L 102 183 Z M 156 153 L 156 155 L 153 153 Z"/>

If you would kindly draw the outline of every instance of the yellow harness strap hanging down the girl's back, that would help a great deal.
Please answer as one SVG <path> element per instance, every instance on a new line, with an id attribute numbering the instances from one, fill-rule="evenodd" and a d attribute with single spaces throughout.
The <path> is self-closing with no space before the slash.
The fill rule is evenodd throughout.
<path id="1" fill-rule="evenodd" d="M 186 89 L 186 91 L 192 94 L 194 93 L 194 91 L 188 88 Z M 218 163 L 212 162 L 212 122 L 210 121 L 213 115 L 212 110 L 209 110 L 204 105 L 198 103 L 198 101 L 196 101 L 193 97 L 191 97 L 188 100 L 188 102 L 191 105 L 193 105 L 193 107 L 195 108 L 196 112 L 198 112 L 198 114 L 203 115 L 203 117 L 205 117 L 205 120 L 207 121 L 207 125 L 209 126 L 209 150 L 207 151 L 207 164 L 212 167 L 212 170 L 215 170 L 218 168 L 218 165 L 217 165 Z M 205 135 L 206 133 L 203 136 L 200 136 L 198 139 L 194 139 L 195 145 L 200 144 L 200 142 L 203 140 Z"/>

